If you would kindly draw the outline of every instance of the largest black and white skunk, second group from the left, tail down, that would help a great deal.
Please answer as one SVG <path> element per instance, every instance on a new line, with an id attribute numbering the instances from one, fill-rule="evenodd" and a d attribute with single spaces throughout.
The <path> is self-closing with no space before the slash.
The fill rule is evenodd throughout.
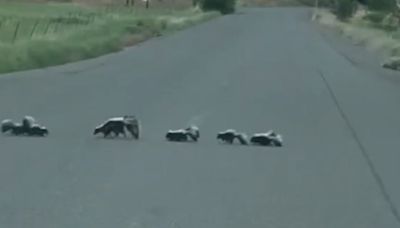
<path id="1" fill-rule="evenodd" d="M 120 134 L 127 137 L 126 130 L 135 138 L 139 139 L 139 120 L 134 116 L 114 117 L 108 119 L 103 124 L 94 129 L 93 134 L 97 135 L 102 133 L 104 137 L 108 137 L 111 133 L 118 137 Z"/>

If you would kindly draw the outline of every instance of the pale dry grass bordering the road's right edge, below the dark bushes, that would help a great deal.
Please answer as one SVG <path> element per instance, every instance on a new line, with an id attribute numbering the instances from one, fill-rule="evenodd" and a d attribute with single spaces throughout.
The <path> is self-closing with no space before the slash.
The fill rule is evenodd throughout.
<path id="1" fill-rule="evenodd" d="M 388 29 L 385 23 L 382 24 L 380 20 L 375 19 L 377 17 L 375 13 L 372 13 L 374 15 L 372 19 L 370 15 L 359 12 L 349 21 L 342 22 L 330 11 L 319 9 L 314 18 L 325 26 L 339 30 L 358 45 L 382 53 L 387 59 L 386 65 L 400 64 L 400 30 Z"/>

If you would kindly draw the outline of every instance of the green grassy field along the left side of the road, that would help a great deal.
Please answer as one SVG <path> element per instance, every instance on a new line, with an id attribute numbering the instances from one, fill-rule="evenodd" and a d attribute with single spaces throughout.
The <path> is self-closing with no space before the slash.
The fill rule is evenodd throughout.
<path id="1" fill-rule="evenodd" d="M 0 73 L 97 57 L 217 15 L 193 8 L 0 2 Z"/>

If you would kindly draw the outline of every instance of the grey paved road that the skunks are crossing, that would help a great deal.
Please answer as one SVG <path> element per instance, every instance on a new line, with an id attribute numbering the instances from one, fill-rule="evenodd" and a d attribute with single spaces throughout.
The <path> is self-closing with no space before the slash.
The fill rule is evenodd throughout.
<path id="1" fill-rule="evenodd" d="M 399 227 L 400 83 L 307 9 L 246 9 L 121 53 L 0 78 L 0 227 Z M 91 135 L 136 114 L 143 139 Z M 197 144 L 164 141 L 195 123 Z M 281 149 L 215 133 L 275 129 Z"/>

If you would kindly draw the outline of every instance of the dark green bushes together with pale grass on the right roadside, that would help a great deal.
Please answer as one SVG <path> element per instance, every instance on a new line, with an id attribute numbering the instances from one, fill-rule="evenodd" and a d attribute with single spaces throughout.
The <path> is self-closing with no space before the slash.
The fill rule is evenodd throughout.
<path id="1" fill-rule="evenodd" d="M 383 67 L 400 70 L 399 7 L 396 0 L 337 0 L 330 8 L 318 10 L 314 18 L 383 53 Z"/>

